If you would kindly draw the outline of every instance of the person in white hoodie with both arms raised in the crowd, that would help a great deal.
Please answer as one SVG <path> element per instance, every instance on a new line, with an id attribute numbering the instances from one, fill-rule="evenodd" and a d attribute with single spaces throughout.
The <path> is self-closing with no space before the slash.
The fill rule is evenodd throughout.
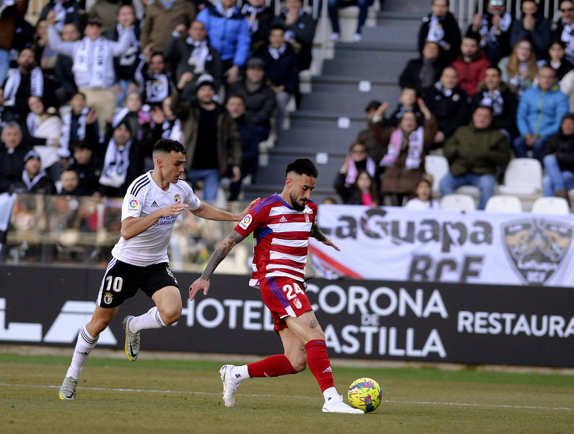
<path id="1" fill-rule="evenodd" d="M 118 42 L 102 36 L 102 21 L 88 18 L 84 36 L 79 41 L 63 42 L 54 27 L 55 14 L 48 14 L 50 48 L 73 60 L 72 71 L 76 86 L 86 95 L 86 103 L 98 112 L 102 134 L 106 119 L 114 115 L 116 101 L 111 90 L 115 83 L 114 57 L 124 54 L 131 45 L 131 33 L 125 32 Z"/>

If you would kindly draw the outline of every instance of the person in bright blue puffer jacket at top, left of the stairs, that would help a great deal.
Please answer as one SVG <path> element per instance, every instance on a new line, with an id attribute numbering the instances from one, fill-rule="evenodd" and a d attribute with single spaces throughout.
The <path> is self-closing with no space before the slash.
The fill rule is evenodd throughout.
<path id="1" fill-rule="evenodd" d="M 233 84 L 239 77 L 251 45 L 249 22 L 235 6 L 235 0 L 220 0 L 197 15 L 205 24 L 210 44 L 221 54 L 224 76 Z"/>

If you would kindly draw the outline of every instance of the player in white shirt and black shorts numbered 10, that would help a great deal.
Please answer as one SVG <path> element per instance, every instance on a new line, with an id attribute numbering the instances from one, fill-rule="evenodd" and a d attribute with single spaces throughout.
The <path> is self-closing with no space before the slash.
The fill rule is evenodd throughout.
<path id="1" fill-rule="evenodd" d="M 156 304 L 143 315 L 128 315 L 126 356 L 135 361 L 139 353 L 139 332 L 176 322 L 181 315 L 181 295 L 169 268 L 168 244 L 173 225 L 182 211 L 216 221 L 240 221 L 253 201 L 240 214 L 200 202 L 191 186 L 179 176 L 184 171 L 185 147 L 176 140 L 161 139 L 153 148 L 154 168 L 136 178 L 127 189 L 122 205 L 122 237 L 112 250 L 90 322 L 80 330 L 71 365 L 59 397 L 73 400 L 77 380 L 98 336 L 114 319 L 121 304 L 138 288 Z"/>

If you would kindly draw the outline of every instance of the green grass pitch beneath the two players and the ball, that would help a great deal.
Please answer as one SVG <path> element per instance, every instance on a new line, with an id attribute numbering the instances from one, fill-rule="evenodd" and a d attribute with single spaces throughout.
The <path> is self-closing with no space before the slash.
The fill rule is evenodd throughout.
<path id="1" fill-rule="evenodd" d="M 228 361 L 90 358 L 74 401 L 58 399 L 69 358 L 0 354 L 2 433 L 572 433 L 574 376 L 475 370 L 333 367 L 346 400 L 359 377 L 381 384 L 383 403 L 365 415 L 321 413 L 306 370 L 239 386 L 221 398 Z"/>

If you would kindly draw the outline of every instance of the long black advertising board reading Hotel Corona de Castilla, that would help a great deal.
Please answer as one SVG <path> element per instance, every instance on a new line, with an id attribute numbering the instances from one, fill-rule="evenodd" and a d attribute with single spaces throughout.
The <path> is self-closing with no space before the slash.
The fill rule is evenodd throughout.
<path id="1" fill-rule="evenodd" d="M 142 332 L 148 350 L 273 354 L 281 342 L 248 276 L 215 275 L 208 297 L 187 299 L 196 274 L 175 273 L 183 312 Z M 0 267 L 0 343 L 73 346 L 89 319 L 102 269 Z M 311 279 L 307 294 L 331 357 L 574 366 L 571 288 Z M 153 306 L 139 292 L 99 338 L 123 347 L 122 319 Z"/>

